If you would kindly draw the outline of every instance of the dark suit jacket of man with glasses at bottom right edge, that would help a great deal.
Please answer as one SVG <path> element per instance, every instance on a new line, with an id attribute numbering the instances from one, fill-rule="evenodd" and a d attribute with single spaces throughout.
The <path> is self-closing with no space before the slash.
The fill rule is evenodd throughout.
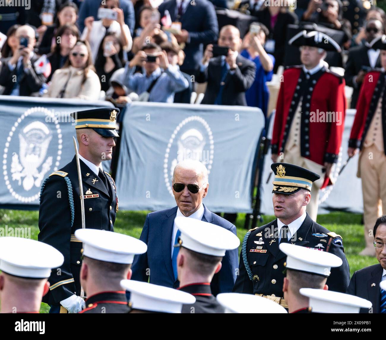
<path id="1" fill-rule="evenodd" d="M 380 313 L 381 288 L 383 268 L 378 264 L 357 270 L 350 280 L 347 294 L 362 297 L 372 303 L 372 313 Z M 375 284 L 375 285 L 374 285 Z M 361 308 L 359 313 L 369 313 L 369 309 Z"/>

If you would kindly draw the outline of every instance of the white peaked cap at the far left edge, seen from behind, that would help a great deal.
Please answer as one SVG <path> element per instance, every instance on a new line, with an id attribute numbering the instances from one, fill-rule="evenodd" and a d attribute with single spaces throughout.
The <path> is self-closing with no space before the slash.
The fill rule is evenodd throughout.
<path id="1" fill-rule="evenodd" d="M 0 237 L 0 270 L 7 274 L 44 279 L 63 261 L 61 252 L 46 243 L 21 237 Z"/>

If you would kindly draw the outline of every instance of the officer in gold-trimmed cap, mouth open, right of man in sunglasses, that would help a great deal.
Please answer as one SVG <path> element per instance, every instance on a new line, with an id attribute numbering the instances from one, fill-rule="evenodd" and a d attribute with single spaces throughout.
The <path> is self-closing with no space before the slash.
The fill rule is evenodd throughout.
<path id="1" fill-rule="evenodd" d="M 345 292 L 350 270 L 342 238 L 317 224 L 306 213 L 313 182 L 319 175 L 287 163 L 274 163 L 271 168 L 276 172 L 272 192 L 277 218 L 245 235 L 234 292 L 258 294 L 288 307 L 282 291 L 286 257 L 279 249 L 282 242 L 340 257 L 343 264 L 331 270 L 327 285 L 333 291 Z"/>

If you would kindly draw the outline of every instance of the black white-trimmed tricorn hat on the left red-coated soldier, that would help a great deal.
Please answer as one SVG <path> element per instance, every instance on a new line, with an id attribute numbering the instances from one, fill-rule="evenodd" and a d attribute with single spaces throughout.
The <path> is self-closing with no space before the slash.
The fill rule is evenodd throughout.
<path id="1" fill-rule="evenodd" d="M 288 44 L 293 46 L 312 46 L 322 48 L 325 51 L 342 52 L 339 44 L 332 37 L 318 31 L 308 33 L 306 30 L 301 31 L 289 39 Z"/>

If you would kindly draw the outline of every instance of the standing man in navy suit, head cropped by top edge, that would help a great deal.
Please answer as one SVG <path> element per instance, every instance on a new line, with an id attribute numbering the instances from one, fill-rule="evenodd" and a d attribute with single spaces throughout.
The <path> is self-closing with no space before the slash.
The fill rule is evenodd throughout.
<path id="1" fill-rule="evenodd" d="M 161 17 L 168 10 L 173 22 L 181 22 L 181 34 L 174 34 L 179 44 L 185 43 L 185 61 L 181 71 L 195 75 L 203 56 L 203 45 L 217 40 L 218 22 L 213 4 L 207 0 L 169 0 L 159 8 Z"/>

